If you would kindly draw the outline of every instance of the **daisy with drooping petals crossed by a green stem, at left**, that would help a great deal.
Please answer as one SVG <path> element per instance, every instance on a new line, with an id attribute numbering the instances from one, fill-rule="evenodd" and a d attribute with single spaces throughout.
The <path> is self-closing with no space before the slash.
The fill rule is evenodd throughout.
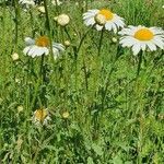
<path id="1" fill-rule="evenodd" d="M 25 44 L 26 47 L 24 48 L 23 52 L 33 58 L 42 55 L 47 56 L 50 51 L 50 42 L 47 36 L 39 36 L 36 39 L 26 37 Z M 51 46 L 55 59 L 60 55 L 60 52 L 65 51 L 65 46 L 62 44 L 52 43 Z"/>

